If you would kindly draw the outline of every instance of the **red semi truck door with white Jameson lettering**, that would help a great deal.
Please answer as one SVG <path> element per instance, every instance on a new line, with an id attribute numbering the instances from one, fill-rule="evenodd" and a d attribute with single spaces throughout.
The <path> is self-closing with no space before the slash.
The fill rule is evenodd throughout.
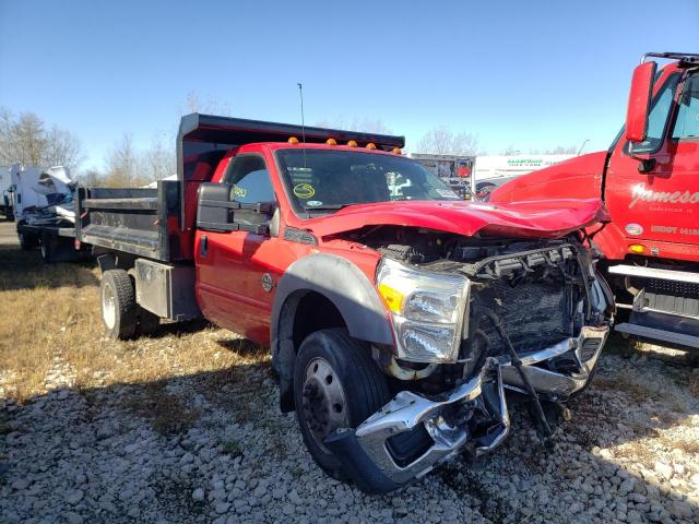
<path id="1" fill-rule="evenodd" d="M 651 241 L 650 254 L 663 255 L 662 243 L 697 243 L 699 231 L 699 73 L 674 72 L 656 92 L 648 138 L 633 155 L 620 141 L 607 169 L 605 201 L 629 243 Z"/>

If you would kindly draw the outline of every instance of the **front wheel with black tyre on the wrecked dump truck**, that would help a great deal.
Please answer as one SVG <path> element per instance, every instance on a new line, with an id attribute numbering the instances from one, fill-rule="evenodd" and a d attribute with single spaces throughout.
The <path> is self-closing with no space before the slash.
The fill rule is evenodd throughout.
<path id="1" fill-rule="evenodd" d="M 323 441 L 337 428 L 356 428 L 390 400 L 386 377 L 369 348 L 344 329 L 311 333 L 294 365 L 294 404 L 304 442 L 318 465 L 346 479 Z"/>

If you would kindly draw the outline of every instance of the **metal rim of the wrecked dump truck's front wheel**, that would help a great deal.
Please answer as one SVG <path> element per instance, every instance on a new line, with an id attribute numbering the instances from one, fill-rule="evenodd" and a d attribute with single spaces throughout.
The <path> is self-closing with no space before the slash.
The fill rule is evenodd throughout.
<path id="1" fill-rule="evenodd" d="M 318 446 L 330 453 L 323 443 L 325 437 L 348 426 L 345 392 L 337 373 L 324 358 L 310 360 L 305 377 L 301 391 L 304 421 Z"/>

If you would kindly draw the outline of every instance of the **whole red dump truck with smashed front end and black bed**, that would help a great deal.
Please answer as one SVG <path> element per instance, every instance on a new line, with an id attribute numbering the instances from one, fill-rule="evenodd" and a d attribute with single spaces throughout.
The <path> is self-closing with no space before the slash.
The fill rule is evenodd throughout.
<path id="1" fill-rule="evenodd" d="M 203 315 L 271 346 L 310 454 L 368 492 L 495 449 L 506 390 L 550 434 L 609 331 L 604 206 L 463 202 L 403 142 L 182 118 L 178 180 L 79 190 L 107 333 Z"/>

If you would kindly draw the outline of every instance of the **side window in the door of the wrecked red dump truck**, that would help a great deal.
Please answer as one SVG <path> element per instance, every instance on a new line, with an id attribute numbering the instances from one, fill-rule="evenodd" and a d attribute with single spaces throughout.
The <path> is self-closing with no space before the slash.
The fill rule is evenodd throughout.
<path id="1" fill-rule="evenodd" d="M 225 177 L 233 184 L 230 200 L 241 204 L 274 202 L 274 189 L 264 159 L 257 155 L 242 155 L 233 159 Z M 235 222 L 241 224 L 265 224 L 270 219 L 252 210 L 236 210 Z"/>

